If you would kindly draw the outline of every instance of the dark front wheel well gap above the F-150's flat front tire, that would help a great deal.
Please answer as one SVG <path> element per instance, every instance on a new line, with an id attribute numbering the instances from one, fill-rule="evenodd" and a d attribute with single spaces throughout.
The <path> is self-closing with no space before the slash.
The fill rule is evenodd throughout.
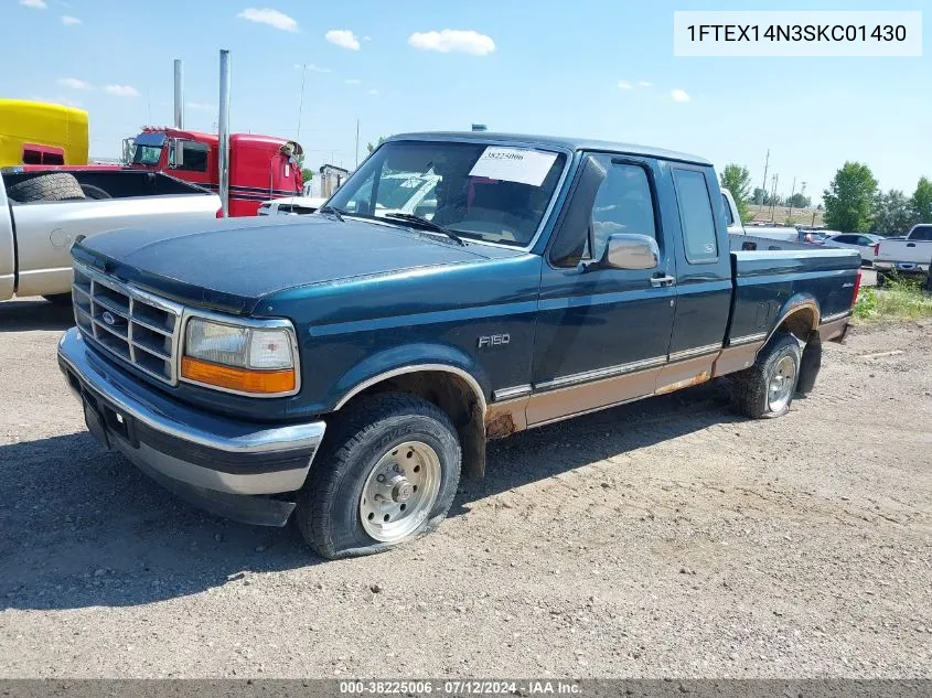
<path id="1" fill-rule="evenodd" d="M 447 412 L 460 438 L 463 471 L 471 477 L 485 474 L 484 405 L 468 380 L 446 371 L 417 371 L 371 385 L 347 404 L 379 393 L 416 395 Z"/>

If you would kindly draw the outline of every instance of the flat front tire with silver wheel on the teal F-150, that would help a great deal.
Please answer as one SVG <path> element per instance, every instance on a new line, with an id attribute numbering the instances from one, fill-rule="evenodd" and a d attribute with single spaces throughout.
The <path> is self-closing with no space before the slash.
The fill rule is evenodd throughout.
<path id="1" fill-rule="evenodd" d="M 332 560 L 382 552 L 440 524 L 453 503 L 462 460 L 457 430 L 443 411 L 388 393 L 351 406 L 329 429 L 294 513 L 319 555 Z M 395 487 L 392 481 L 378 483 L 379 476 L 395 481 L 399 473 L 409 500 L 395 500 L 395 487 L 405 494 L 400 481 Z"/>

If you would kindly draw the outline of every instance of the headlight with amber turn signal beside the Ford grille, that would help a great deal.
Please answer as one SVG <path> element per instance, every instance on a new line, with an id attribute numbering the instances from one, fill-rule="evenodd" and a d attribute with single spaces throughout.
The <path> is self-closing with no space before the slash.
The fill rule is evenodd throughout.
<path id="1" fill-rule="evenodd" d="M 298 387 L 293 345 L 294 332 L 281 321 L 261 326 L 191 318 L 181 377 L 235 393 L 290 395 Z"/>

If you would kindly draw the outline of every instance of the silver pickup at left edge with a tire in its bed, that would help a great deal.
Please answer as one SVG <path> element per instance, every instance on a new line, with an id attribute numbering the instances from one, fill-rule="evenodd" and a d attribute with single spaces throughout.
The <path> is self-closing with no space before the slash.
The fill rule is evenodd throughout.
<path id="1" fill-rule="evenodd" d="M 71 302 L 71 247 L 79 236 L 215 218 L 217 194 L 167 174 L 87 169 L 0 172 L 0 301 Z"/>

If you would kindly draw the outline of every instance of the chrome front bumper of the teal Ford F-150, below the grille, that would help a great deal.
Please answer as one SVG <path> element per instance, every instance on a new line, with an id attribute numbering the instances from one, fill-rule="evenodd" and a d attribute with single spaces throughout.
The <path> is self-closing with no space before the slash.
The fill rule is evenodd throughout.
<path id="1" fill-rule="evenodd" d="M 292 503 L 253 495 L 304 484 L 323 421 L 268 428 L 196 410 L 116 368 L 76 327 L 58 342 L 58 366 L 105 445 L 204 508 L 249 523 L 285 524 Z"/>

